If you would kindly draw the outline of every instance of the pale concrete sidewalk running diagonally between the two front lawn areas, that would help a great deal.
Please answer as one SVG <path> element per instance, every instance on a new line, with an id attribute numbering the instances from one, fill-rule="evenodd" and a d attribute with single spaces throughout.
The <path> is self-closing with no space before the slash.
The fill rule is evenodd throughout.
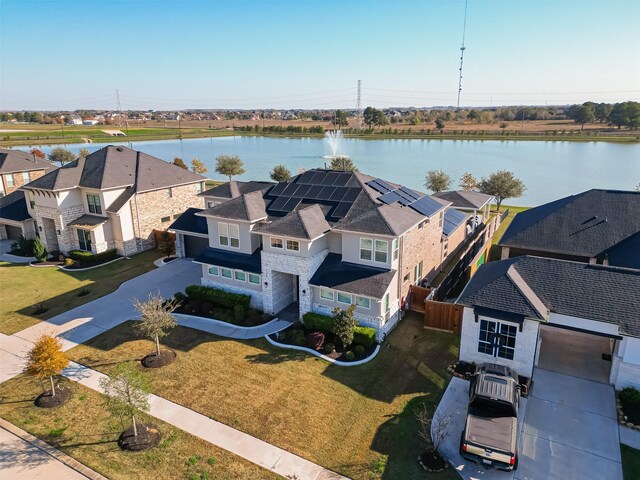
<path id="1" fill-rule="evenodd" d="M 85 387 L 104 393 L 100 389 L 99 382 L 106 375 L 100 372 L 72 362 L 62 374 Z M 149 396 L 149 404 L 151 406 L 149 413 L 152 416 L 283 477 L 299 480 L 346 480 L 346 477 L 320 465 L 157 395 Z"/>

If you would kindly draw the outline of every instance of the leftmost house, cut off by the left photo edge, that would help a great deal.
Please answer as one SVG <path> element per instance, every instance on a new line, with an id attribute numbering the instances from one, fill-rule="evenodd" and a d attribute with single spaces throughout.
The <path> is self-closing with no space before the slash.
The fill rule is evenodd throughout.
<path id="1" fill-rule="evenodd" d="M 18 189 L 56 167 L 21 150 L 0 148 L 0 240 L 35 237 L 35 224 Z"/>

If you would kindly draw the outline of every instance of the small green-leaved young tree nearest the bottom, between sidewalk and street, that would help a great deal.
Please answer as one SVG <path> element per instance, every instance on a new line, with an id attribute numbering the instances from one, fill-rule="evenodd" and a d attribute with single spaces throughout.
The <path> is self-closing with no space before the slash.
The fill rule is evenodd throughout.
<path id="1" fill-rule="evenodd" d="M 149 379 L 135 362 L 120 363 L 110 377 L 100 379 L 100 388 L 107 395 L 107 408 L 112 414 L 131 417 L 133 436 L 138 436 L 136 413 L 149 411 Z"/>

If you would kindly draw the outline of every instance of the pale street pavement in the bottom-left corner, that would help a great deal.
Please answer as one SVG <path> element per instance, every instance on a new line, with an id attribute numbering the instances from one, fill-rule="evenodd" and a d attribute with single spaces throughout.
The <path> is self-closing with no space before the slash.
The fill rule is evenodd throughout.
<path id="1" fill-rule="evenodd" d="M 107 480 L 60 450 L 0 419 L 0 478 Z"/>

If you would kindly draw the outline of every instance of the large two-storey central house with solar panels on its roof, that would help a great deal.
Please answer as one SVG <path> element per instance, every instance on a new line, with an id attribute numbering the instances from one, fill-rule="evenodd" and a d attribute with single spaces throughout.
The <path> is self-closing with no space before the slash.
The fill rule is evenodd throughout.
<path id="1" fill-rule="evenodd" d="M 451 202 L 359 172 L 230 182 L 202 196 L 210 208 L 189 209 L 169 230 L 177 253 L 202 265 L 203 285 L 251 295 L 271 314 L 355 304 L 360 324 L 380 335 L 410 286 L 462 245 L 469 221 Z"/>

